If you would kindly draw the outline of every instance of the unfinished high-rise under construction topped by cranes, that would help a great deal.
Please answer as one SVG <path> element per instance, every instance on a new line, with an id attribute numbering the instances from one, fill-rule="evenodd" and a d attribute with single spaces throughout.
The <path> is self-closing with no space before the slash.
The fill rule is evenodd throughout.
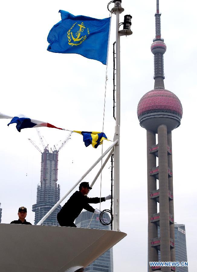
<path id="1" fill-rule="evenodd" d="M 37 186 L 37 201 L 32 206 L 32 211 L 35 212 L 35 225 L 60 200 L 60 185 L 57 185 L 57 171 L 58 151 L 55 150 L 50 153 L 46 147 L 41 157 L 41 176 L 40 185 Z M 57 213 L 60 209 L 61 206 L 59 205 L 42 225 L 59 226 Z"/>

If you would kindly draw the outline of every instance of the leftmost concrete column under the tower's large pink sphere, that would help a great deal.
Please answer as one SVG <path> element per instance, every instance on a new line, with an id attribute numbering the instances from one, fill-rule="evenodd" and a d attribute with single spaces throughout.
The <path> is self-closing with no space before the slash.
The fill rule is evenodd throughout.
<path id="1" fill-rule="evenodd" d="M 150 170 L 156 167 L 156 156 L 150 153 L 150 146 L 154 144 L 156 144 L 155 132 L 147 130 L 148 261 L 158 261 L 158 250 L 151 247 L 151 239 L 158 236 L 157 225 L 150 221 L 151 215 L 157 213 L 157 202 L 150 198 L 150 191 L 157 190 L 157 180 L 155 176 L 150 176 Z M 149 272 L 152 272 L 150 266 Z"/>

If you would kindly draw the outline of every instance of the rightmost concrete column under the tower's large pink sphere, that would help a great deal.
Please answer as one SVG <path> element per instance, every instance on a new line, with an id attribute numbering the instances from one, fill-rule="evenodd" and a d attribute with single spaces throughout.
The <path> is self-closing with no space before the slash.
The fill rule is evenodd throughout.
<path id="1" fill-rule="evenodd" d="M 172 131 L 168 132 L 167 134 L 168 145 L 172 148 Z M 172 162 L 172 154 L 168 155 L 168 166 L 171 170 L 173 170 L 173 162 Z M 174 219 L 174 194 L 173 194 L 173 176 L 169 177 L 168 179 L 168 187 L 173 195 L 173 199 L 169 201 L 169 212 Z M 173 223 L 170 224 L 170 238 L 175 241 L 175 234 L 174 234 L 174 220 Z M 176 245 L 175 245 L 176 247 Z M 170 261 L 175 262 L 175 248 L 171 248 L 170 250 Z"/>

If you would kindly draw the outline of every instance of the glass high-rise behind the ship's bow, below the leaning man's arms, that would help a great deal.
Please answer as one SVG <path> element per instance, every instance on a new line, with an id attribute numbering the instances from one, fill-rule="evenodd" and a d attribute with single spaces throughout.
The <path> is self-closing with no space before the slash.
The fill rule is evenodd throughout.
<path id="1" fill-rule="evenodd" d="M 111 225 L 102 225 L 99 221 L 98 215 L 84 211 L 75 219 L 75 224 L 79 228 L 98 228 L 98 229 L 111 229 Z M 103 220 L 108 223 L 110 217 L 107 213 L 103 215 Z M 110 248 L 104 254 L 102 254 L 98 259 L 96 259 L 92 264 L 87 266 L 84 271 L 88 272 L 113 272 L 113 249 Z"/>

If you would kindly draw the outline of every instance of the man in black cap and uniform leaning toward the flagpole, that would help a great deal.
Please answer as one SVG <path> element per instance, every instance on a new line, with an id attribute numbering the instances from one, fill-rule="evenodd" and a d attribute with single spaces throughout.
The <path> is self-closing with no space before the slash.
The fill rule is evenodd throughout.
<path id="1" fill-rule="evenodd" d="M 74 224 L 77 216 L 85 209 L 89 212 L 95 212 L 100 214 L 98 209 L 92 208 L 88 203 L 99 203 L 100 197 L 87 197 L 87 193 L 92 188 L 89 186 L 89 182 L 82 182 L 79 185 L 79 191 L 76 191 L 69 200 L 64 204 L 60 212 L 57 214 L 57 221 L 60 226 L 64 227 L 76 227 Z M 111 199 L 111 195 L 102 197 L 101 202 Z"/>

